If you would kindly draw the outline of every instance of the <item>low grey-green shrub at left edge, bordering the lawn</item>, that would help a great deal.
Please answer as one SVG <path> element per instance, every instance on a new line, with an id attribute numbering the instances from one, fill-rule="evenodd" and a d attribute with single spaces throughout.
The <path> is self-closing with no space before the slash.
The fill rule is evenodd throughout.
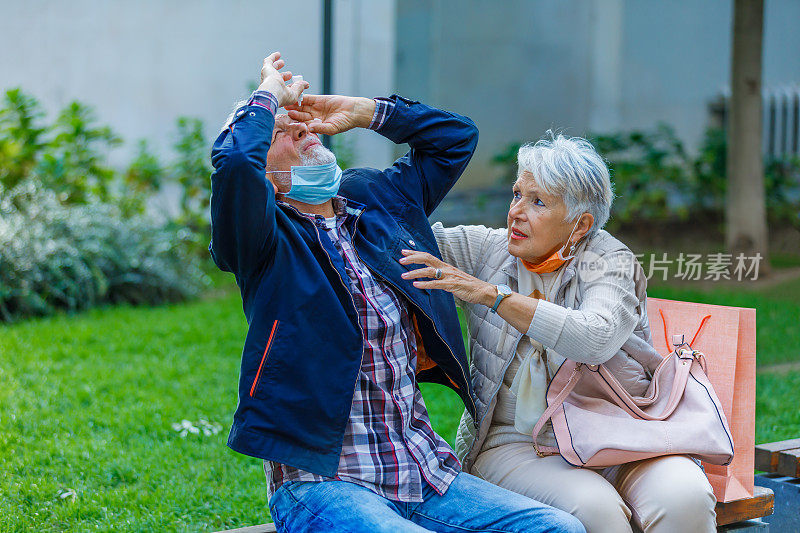
<path id="1" fill-rule="evenodd" d="M 64 205 L 36 180 L 0 186 L 0 320 L 194 296 L 207 281 L 187 236 L 116 205 Z"/>

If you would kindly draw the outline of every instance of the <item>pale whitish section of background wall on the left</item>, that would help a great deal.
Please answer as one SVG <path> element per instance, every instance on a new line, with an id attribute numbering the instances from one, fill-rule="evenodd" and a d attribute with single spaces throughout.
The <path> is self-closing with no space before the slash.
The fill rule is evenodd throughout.
<path id="1" fill-rule="evenodd" d="M 334 90 L 390 93 L 394 0 L 334 4 Z M 94 106 L 127 141 L 117 165 L 139 138 L 168 156 L 180 115 L 202 118 L 216 136 L 271 51 L 310 92 L 322 90 L 321 0 L 0 0 L 0 14 L 0 90 L 21 86 L 51 117 L 74 99 Z M 351 144 L 366 162 L 388 162 L 391 146 L 371 142 Z"/>

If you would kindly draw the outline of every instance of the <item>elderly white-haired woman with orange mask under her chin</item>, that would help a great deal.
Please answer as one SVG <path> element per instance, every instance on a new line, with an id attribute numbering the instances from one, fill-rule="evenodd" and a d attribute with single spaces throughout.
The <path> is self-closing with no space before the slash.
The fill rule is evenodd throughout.
<path id="1" fill-rule="evenodd" d="M 508 228 L 444 228 L 444 261 L 404 251 L 414 285 L 453 293 L 470 336 L 477 423 L 464 413 L 456 451 L 465 471 L 572 513 L 587 531 L 716 531 L 700 466 L 665 456 L 606 468 L 540 457 L 531 432 L 564 358 L 605 363 L 641 395 L 661 360 L 652 347 L 646 278 L 633 253 L 601 228 L 609 172 L 581 138 L 520 148 Z M 548 423 L 539 442 L 554 446 Z"/>

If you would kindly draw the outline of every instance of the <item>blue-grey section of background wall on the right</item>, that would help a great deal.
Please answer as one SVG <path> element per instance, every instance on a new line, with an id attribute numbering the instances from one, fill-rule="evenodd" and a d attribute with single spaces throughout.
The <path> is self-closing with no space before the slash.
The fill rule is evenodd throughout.
<path id="1" fill-rule="evenodd" d="M 800 82 L 800 2 L 765 3 L 764 85 Z M 490 185 L 490 158 L 548 128 L 652 128 L 689 148 L 728 84 L 729 0 L 398 0 L 397 87 L 481 130 L 459 186 Z"/>

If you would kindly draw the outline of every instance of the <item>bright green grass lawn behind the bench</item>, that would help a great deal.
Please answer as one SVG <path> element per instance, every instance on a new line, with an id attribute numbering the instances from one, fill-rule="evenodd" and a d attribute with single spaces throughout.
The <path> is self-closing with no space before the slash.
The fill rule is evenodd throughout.
<path id="1" fill-rule="evenodd" d="M 759 364 L 800 361 L 800 281 L 759 294 L 651 295 L 757 307 Z M 0 326 L 0 531 L 267 521 L 260 461 L 225 446 L 244 333 L 235 293 Z M 457 396 L 436 385 L 423 392 L 452 442 Z M 800 436 L 799 401 L 800 371 L 760 373 L 757 442 Z M 172 424 L 184 419 L 223 429 L 181 437 Z"/>

